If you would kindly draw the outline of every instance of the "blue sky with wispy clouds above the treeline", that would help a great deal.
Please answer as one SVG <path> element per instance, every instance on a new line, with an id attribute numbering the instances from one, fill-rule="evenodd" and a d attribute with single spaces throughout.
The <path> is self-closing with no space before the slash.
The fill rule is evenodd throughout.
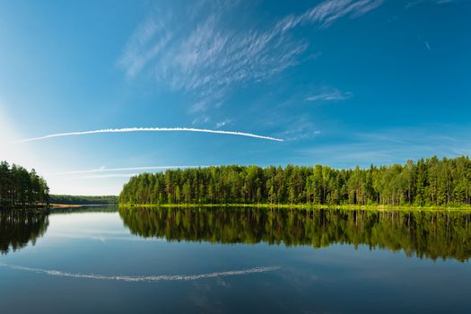
<path id="1" fill-rule="evenodd" d="M 471 154 L 471 1 L 2 1 L 0 160 L 52 193 L 167 166 Z M 234 131 L 99 133 L 125 127 Z"/>

